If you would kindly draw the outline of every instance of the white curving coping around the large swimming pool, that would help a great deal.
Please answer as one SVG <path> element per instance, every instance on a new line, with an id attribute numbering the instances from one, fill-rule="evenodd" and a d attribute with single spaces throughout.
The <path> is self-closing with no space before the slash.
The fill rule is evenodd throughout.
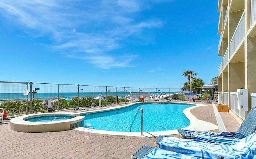
<path id="1" fill-rule="evenodd" d="M 145 102 L 146 103 L 146 102 Z M 157 102 L 150 102 L 150 103 L 157 103 Z M 166 103 L 166 102 L 162 102 Z M 174 102 L 170 102 L 174 103 Z M 184 102 L 175 102 L 175 103 L 182 103 Z M 114 106 L 114 107 L 108 107 L 104 110 L 88 110 L 88 111 L 82 111 L 80 114 L 89 114 L 90 112 L 104 112 L 104 111 L 109 111 L 109 110 L 114 110 L 114 109 L 119 109 L 119 108 L 124 108 L 128 107 L 134 104 L 138 103 L 132 103 L 132 104 L 127 104 L 123 106 Z M 216 130 L 218 129 L 218 126 L 215 124 L 212 124 L 210 122 L 206 122 L 203 120 L 198 120 L 191 112 L 190 110 L 193 108 L 197 108 L 200 106 L 207 106 L 205 104 L 194 104 L 194 103 L 186 103 L 186 104 L 193 104 L 196 106 L 192 106 L 189 108 L 186 108 L 183 110 L 183 113 L 185 116 L 190 120 L 190 125 L 186 128 L 183 129 L 190 129 L 190 130 L 201 130 L 201 131 L 210 131 L 210 130 Z M 159 135 L 173 135 L 173 134 L 178 134 L 177 130 L 167 130 L 167 131 L 159 131 L 159 132 L 143 132 L 142 135 L 140 132 L 113 132 L 113 131 L 106 131 L 106 130 L 95 130 L 95 129 L 89 129 L 89 128 L 83 128 L 83 127 L 78 127 L 74 128 L 74 130 L 82 131 L 82 132 L 90 132 L 90 133 L 100 133 L 100 134 L 107 134 L 107 135 L 123 135 L 123 136 L 145 136 L 145 137 L 155 137 Z"/>

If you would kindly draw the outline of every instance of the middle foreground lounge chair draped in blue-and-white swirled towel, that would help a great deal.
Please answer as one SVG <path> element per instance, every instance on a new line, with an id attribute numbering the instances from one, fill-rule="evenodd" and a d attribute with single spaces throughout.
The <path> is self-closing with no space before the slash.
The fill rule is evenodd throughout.
<path id="1" fill-rule="evenodd" d="M 256 132 L 231 145 L 210 143 L 204 140 L 182 139 L 172 136 L 160 136 L 155 141 L 156 147 L 176 153 L 204 159 L 255 159 Z"/>

